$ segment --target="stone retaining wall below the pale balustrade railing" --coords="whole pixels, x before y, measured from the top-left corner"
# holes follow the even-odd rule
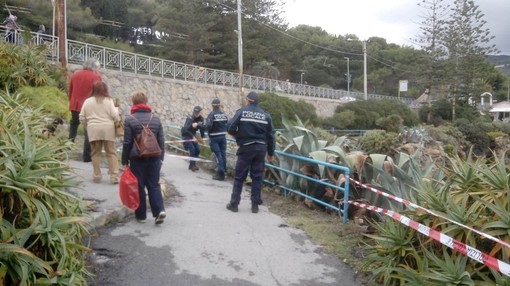
[[[72,71],[81,68],[73,65]],[[123,115],[129,114],[131,108],[130,95],[137,89],[144,90],[149,96],[149,105],[160,115],[164,126],[184,123],[195,105],[200,105],[204,117],[211,111],[211,101],[219,98],[223,110],[229,117],[240,107],[241,96],[238,88],[212,84],[194,83],[154,76],[123,73],[119,71],[101,70],[103,80],[108,84],[110,95],[119,98]],[[246,91],[246,94],[249,91]],[[340,101],[306,96],[279,94],[293,100],[304,100],[315,106],[319,117],[330,117]]]

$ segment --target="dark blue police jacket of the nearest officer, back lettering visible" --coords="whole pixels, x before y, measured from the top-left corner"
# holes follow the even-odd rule
[[[266,145],[267,154],[273,156],[275,141],[271,115],[257,105],[250,104],[236,111],[228,122],[228,134],[236,138],[239,148]]]

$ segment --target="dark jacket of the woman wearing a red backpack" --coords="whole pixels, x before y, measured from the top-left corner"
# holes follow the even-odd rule
[[[131,115],[136,117],[136,119],[138,119],[140,123],[145,126],[147,123],[149,123],[151,114],[152,113],[147,109],[137,109]],[[142,126],[140,123],[138,123],[138,121],[136,121],[136,119],[131,117],[131,115],[126,116],[124,119],[124,145],[122,147],[122,165],[127,165],[130,159],[138,158],[138,151],[136,150],[134,140],[136,136],[142,132]],[[161,148],[161,156],[159,159],[163,161],[165,159],[165,135],[163,132],[163,125],[161,125],[161,120],[156,114],[153,114],[149,123],[149,128],[158,139],[159,147]]]

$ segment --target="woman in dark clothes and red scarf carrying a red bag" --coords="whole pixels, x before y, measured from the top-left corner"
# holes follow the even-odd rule
[[[140,194],[140,205],[135,210],[135,216],[138,222],[144,223],[147,219],[147,200],[145,188],[149,195],[149,202],[152,216],[156,224],[161,224],[165,220],[165,206],[161,187],[159,185],[159,176],[161,164],[165,156],[165,136],[163,126],[159,116],[152,113],[152,109],[147,105],[147,95],[143,91],[135,91],[131,100],[131,115],[124,119],[124,145],[122,148],[122,165],[129,166],[133,174],[138,179],[138,191]],[[134,117],[134,118],[133,118]],[[142,124],[148,125],[152,133],[156,136],[161,156],[159,157],[140,157],[134,144],[135,138],[142,132]]]

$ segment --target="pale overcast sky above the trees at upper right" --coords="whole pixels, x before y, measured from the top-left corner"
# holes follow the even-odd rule
[[[376,36],[389,43],[413,46],[420,35],[425,10],[421,0],[286,0],[284,17],[290,27],[319,26],[330,34],[355,34],[360,40]],[[500,54],[510,55],[510,0],[476,0],[485,14]]]

